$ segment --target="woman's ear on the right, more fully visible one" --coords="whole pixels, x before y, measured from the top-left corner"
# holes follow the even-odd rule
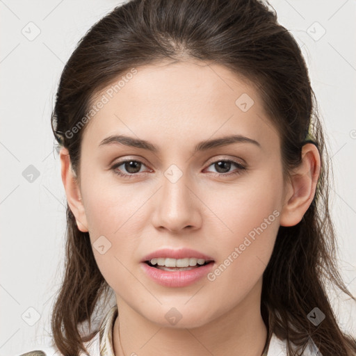
[[[302,220],[314,199],[320,163],[320,154],[316,145],[305,144],[302,147],[302,163],[291,172],[291,180],[286,183],[280,225],[294,226]]]

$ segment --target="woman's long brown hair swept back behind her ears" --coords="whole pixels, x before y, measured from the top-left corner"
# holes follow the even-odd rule
[[[302,145],[321,154],[316,194],[300,223],[280,227],[264,271],[261,315],[286,339],[289,355],[312,339],[323,356],[356,355],[355,339],[341,332],[327,297],[327,282],[356,300],[341,280],[328,208],[329,163],[316,97],[300,48],[278,24],[275,10],[258,0],[133,0],[116,7],[83,36],[60,77],[52,129],[70,152],[80,180],[81,138],[93,98],[140,65],[192,58],[224,65],[255,86],[281,138],[284,171],[300,164]],[[86,118],[86,120],[85,120]],[[51,316],[63,355],[88,354],[79,332],[110,287],[99,271],[88,232],[79,231],[67,206],[65,275]],[[317,326],[314,307],[325,314]]]

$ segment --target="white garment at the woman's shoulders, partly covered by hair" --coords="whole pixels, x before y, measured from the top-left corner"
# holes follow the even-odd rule
[[[84,343],[90,356],[115,356],[113,353],[113,325],[118,316],[118,307],[112,307],[104,317],[97,334],[90,341]],[[41,348],[45,356],[63,356],[54,348]],[[44,356],[40,353],[24,353],[19,356]],[[81,353],[81,356],[85,356]],[[282,341],[272,334],[266,356],[286,356],[286,341]],[[323,356],[311,341],[302,356]]]

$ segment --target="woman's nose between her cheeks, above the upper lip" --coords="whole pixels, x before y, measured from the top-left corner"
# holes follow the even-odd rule
[[[152,223],[157,229],[167,229],[172,233],[191,232],[202,223],[202,202],[188,175],[183,174],[176,179],[171,179],[168,174],[162,176],[161,188],[154,200]]]

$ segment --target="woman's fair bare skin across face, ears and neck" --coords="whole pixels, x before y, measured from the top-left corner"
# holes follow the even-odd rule
[[[89,232],[92,243],[103,235],[111,243],[106,253],[93,252],[118,302],[115,355],[259,356],[267,337],[260,313],[262,274],[279,226],[296,225],[312,202],[318,150],[305,145],[302,164],[284,181],[277,129],[247,82],[223,66],[192,60],[136,69],[88,123],[80,181],[67,149],[60,151],[67,201],[79,229]],[[254,100],[246,112],[235,104],[243,93]],[[261,147],[233,143],[193,154],[200,141],[232,133]],[[113,134],[147,140],[159,152],[99,147]],[[143,162],[136,171],[115,168],[136,176],[115,175],[111,167],[122,159]],[[219,170],[213,163],[222,159],[245,163],[246,170],[234,163]],[[172,164],[182,173],[175,183],[164,175]],[[173,288],[156,284],[140,268],[149,252],[187,247],[213,257],[215,269],[273,211],[279,213],[273,223],[216,280],[204,277]],[[165,318],[172,307],[181,314],[175,325]]]

